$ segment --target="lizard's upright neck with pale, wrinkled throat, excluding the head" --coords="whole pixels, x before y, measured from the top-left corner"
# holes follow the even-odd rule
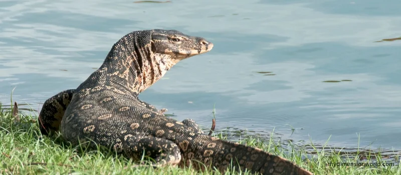
[[[119,89],[139,94],[159,80],[179,60],[168,54],[154,53],[153,44],[139,43],[136,33],[129,33],[117,41],[99,70]]]

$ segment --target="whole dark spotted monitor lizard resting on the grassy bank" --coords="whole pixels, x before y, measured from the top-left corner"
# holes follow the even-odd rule
[[[312,174],[295,163],[259,148],[205,135],[191,119],[182,122],[138,98],[178,61],[210,51],[213,43],[176,30],[133,31],[117,41],[103,64],[76,89],[45,101],[41,131],[60,129],[65,140],[92,140],[138,160],[143,153],[158,165],[204,170],[214,166],[262,174]],[[185,123],[185,124],[184,124]],[[90,141],[90,146],[95,146]],[[144,152],[143,152],[144,151]]]

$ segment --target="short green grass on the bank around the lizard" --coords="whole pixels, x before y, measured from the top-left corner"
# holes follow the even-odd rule
[[[84,150],[80,146],[68,145],[61,137],[44,136],[39,131],[37,116],[21,112],[19,115],[20,121],[16,122],[12,111],[2,108],[0,104],[0,174],[220,174],[213,169],[200,172],[192,168],[173,166],[132,167],[134,162],[111,151]],[[217,132],[215,136],[227,139],[227,135],[222,132]],[[365,156],[363,161],[359,161],[360,156],[344,157],[344,152],[316,148],[313,143],[309,144],[312,151],[293,144],[285,148],[280,141],[275,141],[273,134],[267,140],[247,136],[239,142],[290,159],[314,174],[401,174],[399,165],[329,165],[346,162],[384,162],[379,153]],[[231,171],[226,174],[249,173]]]

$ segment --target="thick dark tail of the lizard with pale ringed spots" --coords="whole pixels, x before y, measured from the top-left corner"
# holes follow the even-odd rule
[[[299,174],[307,175],[312,172],[296,165],[277,155],[262,149],[246,146],[239,143],[221,140],[209,135],[197,135],[195,139],[181,141],[179,146],[183,150],[182,163],[192,163],[197,169],[205,170],[206,166],[214,166],[224,173],[227,168],[238,170],[248,169],[260,174]],[[194,163],[202,162],[202,163]]]

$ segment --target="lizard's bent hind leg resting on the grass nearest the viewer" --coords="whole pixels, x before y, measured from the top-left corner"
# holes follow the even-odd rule
[[[181,152],[177,144],[171,140],[154,136],[124,136],[122,144],[124,154],[134,160],[140,160],[142,155],[152,158],[154,165],[176,165],[181,160]]]

